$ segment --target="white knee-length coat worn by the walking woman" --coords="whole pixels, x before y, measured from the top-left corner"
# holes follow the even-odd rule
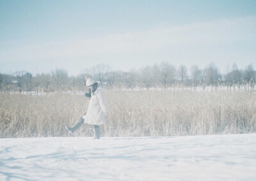
[[[90,125],[103,125],[106,123],[104,113],[107,113],[107,111],[108,109],[103,90],[100,86],[98,86],[97,90],[92,93],[87,112],[83,116],[84,123],[88,123]]]

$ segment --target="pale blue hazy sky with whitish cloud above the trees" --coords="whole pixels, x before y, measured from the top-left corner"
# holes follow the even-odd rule
[[[0,73],[163,61],[256,68],[256,1],[0,0]]]

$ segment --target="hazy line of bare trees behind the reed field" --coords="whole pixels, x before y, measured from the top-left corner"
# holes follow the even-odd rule
[[[83,74],[71,77],[68,76],[66,70],[58,68],[49,74],[35,76],[26,71],[15,72],[12,75],[0,74],[0,90],[2,92],[33,91],[37,93],[84,90],[86,75],[102,82],[105,88],[122,90],[134,88],[166,90],[188,87],[196,90],[198,87],[205,89],[209,86],[212,90],[219,86],[225,86],[227,90],[254,90],[256,82],[256,72],[252,65],[239,69],[234,63],[226,74],[220,74],[214,63],[204,69],[193,65],[188,73],[188,68],[185,65],[176,68],[168,62],[163,62],[129,72],[111,71],[108,65],[96,65],[84,70]]]

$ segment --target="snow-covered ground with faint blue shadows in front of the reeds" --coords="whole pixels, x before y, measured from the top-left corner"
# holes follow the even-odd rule
[[[256,180],[256,134],[0,139],[0,180]]]

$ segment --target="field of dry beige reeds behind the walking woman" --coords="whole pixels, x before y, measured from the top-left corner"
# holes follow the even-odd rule
[[[102,136],[186,136],[256,132],[256,92],[105,91]],[[0,94],[0,138],[70,136],[88,100],[75,93]],[[74,136],[93,136],[84,124]]]

